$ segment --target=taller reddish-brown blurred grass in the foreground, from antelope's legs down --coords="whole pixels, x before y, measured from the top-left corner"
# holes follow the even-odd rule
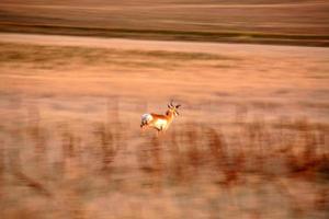
[[[136,212],[134,199],[144,215],[135,218],[179,218],[191,207],[191,218],[326,218],[328,127],[288,118],[188,120],[156,137],[129,129],[134,124],[112,108],[105,122],[52,124],[31,105],[22,108],[26,117],[3,123],[1,216],[127,217]]]

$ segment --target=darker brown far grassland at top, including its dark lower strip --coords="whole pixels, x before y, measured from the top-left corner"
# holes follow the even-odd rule
[[[328,46],[326,0],[0,2],[0,31]]]

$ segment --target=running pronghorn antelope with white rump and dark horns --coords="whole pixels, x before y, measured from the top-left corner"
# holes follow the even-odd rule
[[[179,114],[177,111],[181,105],[173,105],[172,102],[168,104],[166,115],[159,115],[154,113],[147,113],[141,116],[140,128],[152,127],[159,131],[167,130],[173,118]]]

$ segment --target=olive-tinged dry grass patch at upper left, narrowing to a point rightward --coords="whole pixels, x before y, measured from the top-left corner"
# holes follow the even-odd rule
[[[70,65],[114,65],[138,68],[168,68],[186,61],[229,61],[236,57],[207,53],[131,50],[78,46],[44,46],[0,43],[0,64],[33,65],[34,68],[64,68]],[[222,66],[220,66],[222,67]]]

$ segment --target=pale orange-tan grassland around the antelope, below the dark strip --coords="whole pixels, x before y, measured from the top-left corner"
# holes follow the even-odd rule
[[[327,218],[328,53],[0,34],[0,218]]]

